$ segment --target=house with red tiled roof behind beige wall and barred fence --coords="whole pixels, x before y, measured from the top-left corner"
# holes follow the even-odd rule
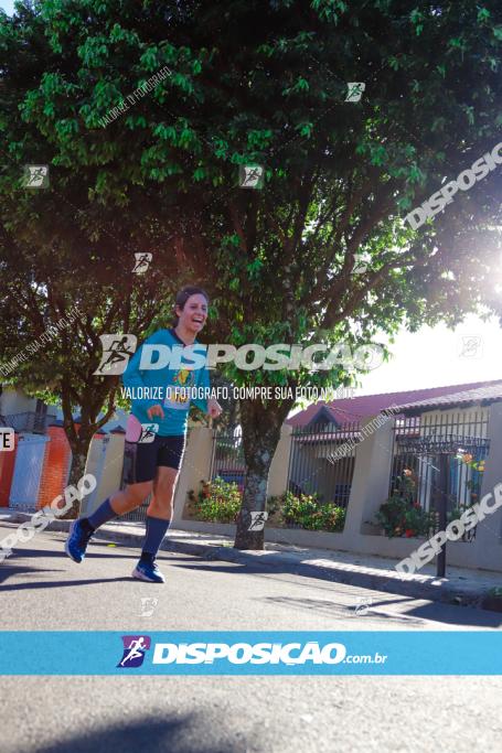
[[[346,508],[344,528],[335,533],[267,525],[268,541],[357,552],[362,559],[380,555],[400,560],[424,539],[407,538],[405,531],[387,538],[375,515],[391,493],[399,491],[405,470],[416,482],[415,504],[437,510],[446,499],[453,516],[478,499],[493,496],[494,487],[502,483],[502,379],[363,396],[342,400],[342,406],[338,402],[309,406],[284,424],[268,494],[288,488],[316,491],[325,503]],[[387,416],[380,413],[391,407]],[[177,490],[177,528],[233,535],[233,525],[194,519],[185,504],[188,490],[196,490],[201,478],[216,475],[214,460],[222,439],[226,467],[228,438],[204,428],[193,430]],[[330,462],[329,455],[341,444],[348,448],[345,456]],[[236,447],[234,442],[234,461]],[[502,572],[502,509],[495,509],[469,536],[449,541],[447,561]]]

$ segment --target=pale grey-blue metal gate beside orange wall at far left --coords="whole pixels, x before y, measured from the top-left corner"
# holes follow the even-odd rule
[[[9,507],[35,510],[42,477],[45,443],[43,434],[21,434],[15,453],[14,473],[9,496]]]

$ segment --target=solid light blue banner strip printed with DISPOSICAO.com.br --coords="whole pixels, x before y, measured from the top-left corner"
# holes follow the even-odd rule
[[[0,675],[502,675],[502,632],[0,632]]]

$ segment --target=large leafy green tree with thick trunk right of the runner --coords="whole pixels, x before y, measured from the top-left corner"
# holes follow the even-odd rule
[[[403,323],[455,324],[492,288],[496,170],[419,230],[403,219],[499,141],[494,0],[145,0],[140,13],[132,0],[46,0],[2,34],[21,44],[40,24],[50,51],[20,97],[26,128],[62,185],[78,175],[87,186],[89,212],[135,215],[151,196],[158,233],[177,236],[214,294],[218,342],[307,344],[322,332],[365,345]],[[349,82],[365,84],[359,103],[345,101]],[[117,106],[127,111],[102,127]],[[253,163],[265,165],[261,190],[238,186],[238,165]],[[351,378],[343,363],[225,373],[291,387]],[[241,404],[237,547],[263,547],[249,513],[265,507],[292,402]]]

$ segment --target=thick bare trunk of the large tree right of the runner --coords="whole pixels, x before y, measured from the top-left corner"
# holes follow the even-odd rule
[[[292,401],[273,402],[267,407],[258,400],[241,401],[243,447],[246,477],[234,547],[263,549],[265,530],[249,530],[252,512],[264,512],[267,502],[268,472],[280,438],[280,428]]]

